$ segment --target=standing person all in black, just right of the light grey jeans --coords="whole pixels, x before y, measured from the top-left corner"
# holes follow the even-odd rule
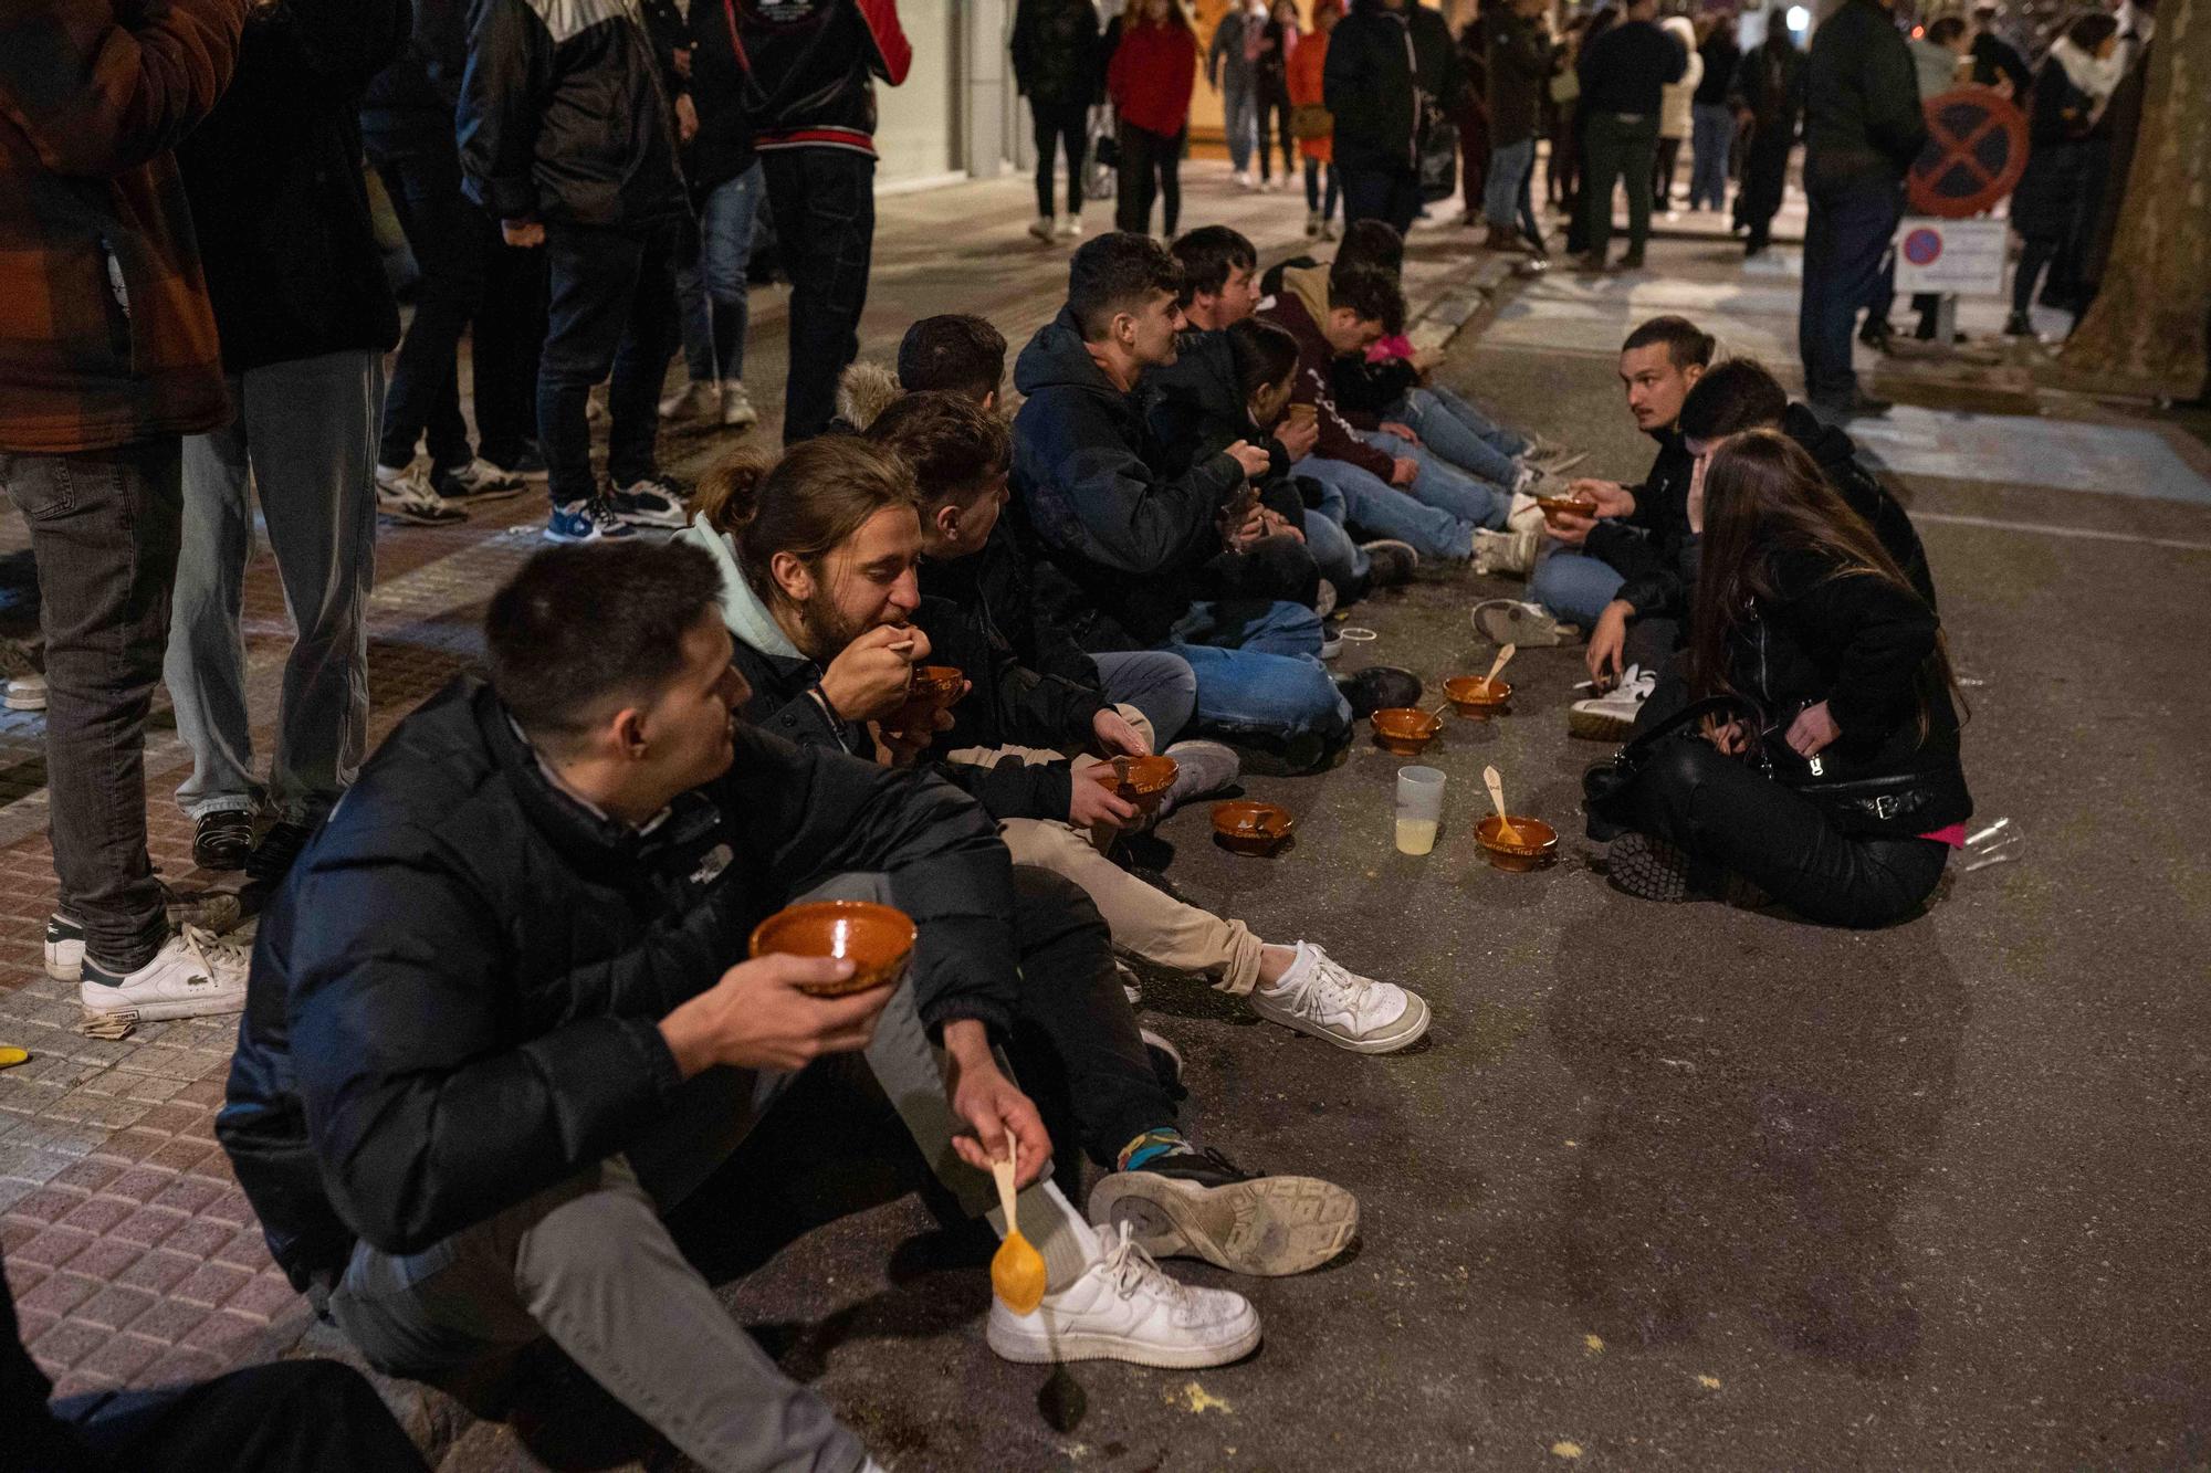
[[[531,476],[544,476],[544,252],[506,245],[500,223],[462,190],[453,108],[467,66],[467,0],[413,0],[407,49],[376,73],[360,102],[369,164],[418,270],[376,447],[376,504],[405,522],[460,522],[460,504],[517,495]],[[460,416],[462,332],[471,334],[475,447]],[[413,469],[425,436],[429,476]]]

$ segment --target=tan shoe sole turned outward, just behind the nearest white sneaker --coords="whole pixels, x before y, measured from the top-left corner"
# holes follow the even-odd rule
[[[1154,1258],[1205,1258],[1254,1278],[1304,1274],[1360,1230],[1360,1199],[1318,1177],[1258,1177],[1205,1188],[1159,1172],[1117,1172],[1090,1192],[1090,1221],[1128,1223]]]

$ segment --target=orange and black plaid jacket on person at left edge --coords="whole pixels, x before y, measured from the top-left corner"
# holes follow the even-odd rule
[[[170,157],[223,95],[248,0],[0,0],[0,449],[228,418]]]

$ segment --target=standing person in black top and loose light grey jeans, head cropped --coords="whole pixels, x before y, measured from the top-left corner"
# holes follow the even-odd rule
[[[177,146],[234,418],[184,442],[168,679],[192,774],[192,858],[274,882],[369,741],[376,427],[400,314],[360,177],[360,91],[407,0],[283,0],[245,22],[223,102]],[[270,779],[254,779],[239,610],[259,487],[298,637]],[[254,845],[254,816],[274,823]]]

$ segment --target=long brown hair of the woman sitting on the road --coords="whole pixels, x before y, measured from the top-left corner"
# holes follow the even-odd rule
[[[1795,551],[1824,555],[1833,564],[1828,577],[1877,577],[1919,597],[1873,526],[1826,482],[1802,445],[1778,429],[1747,429],[1720,445],[1705,467],[1705,535],[1689,608],[1691,694],[1747,694],[1729,679],[1729,646],[1756,604],[1773,602],[1775,555]],[[1917,686],[1919,739],[1926,741],[1941,692],[1966,710],[1939,630]]]

